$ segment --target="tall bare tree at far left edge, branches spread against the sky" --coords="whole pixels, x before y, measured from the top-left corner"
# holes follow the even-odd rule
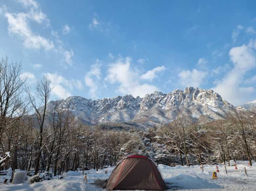
[[[21,62],[0,61],[0,142],[7,127],[15,126],[26,114],[27,104],[22,97],[26,78],[21,78]],[[5,148],[2,145],[2,152]],[[8,147],[10,149],[10,147]],[[9,150],[8,150],[9,151]]]

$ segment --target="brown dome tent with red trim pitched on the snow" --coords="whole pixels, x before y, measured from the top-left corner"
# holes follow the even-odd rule
[[[123,157],[112,171],[107,188],[110,190],[165,190],[163,178],[148,157],[132,154]]]

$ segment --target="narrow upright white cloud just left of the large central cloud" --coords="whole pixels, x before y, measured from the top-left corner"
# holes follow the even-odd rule
[[[91,65],[91,69],[84,77],[85,84],[90,88],[89,94],[92,98],[98,98],[97,92],[100,86],[99,80],[101,79],[100,71],[101,62],[97,59],[96,63]]]

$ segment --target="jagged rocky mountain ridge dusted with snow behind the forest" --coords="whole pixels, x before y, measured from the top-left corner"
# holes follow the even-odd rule
[[[71,96],[59,100],[62,104],[70,103],[72,113],[83,123],[96,125],[110,122],[131,122],[140,127],[152,127],[166,124],[179,113],[200,120],[223,118],[227,112],[236,109],[210,89],[187,87],[182,90],[163,94],[154,92],[143,98],[132,95],[86,99]],[[53,101],[48,103],[48,107]]]

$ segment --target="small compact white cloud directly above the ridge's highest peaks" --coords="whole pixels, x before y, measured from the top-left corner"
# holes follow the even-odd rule
[[[183,86],[200,87],[207,74],[207,72],[200,71],[197,69],[193,69],[192,71],[183,70],[178,74],[178,77],[180,84]]]

